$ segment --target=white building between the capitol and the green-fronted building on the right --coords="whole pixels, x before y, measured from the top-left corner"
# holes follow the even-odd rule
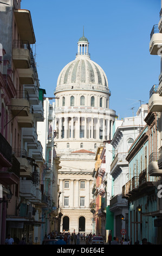
[[[113,139],[113,161],[111,163],[112,175],[112,198],[109,201],[109,211],[114,215],[114,235],[120,239],[121,229],[126,230],[128,239],[128,205],[127,200],[122,198],[122,186],[128,182],[128,162],[126,156],[132,143],[138,137],[142,127],[145,126],[145,117],[148,113],[148,105],[141,105],[135,117],[124,118],[117,127]]]

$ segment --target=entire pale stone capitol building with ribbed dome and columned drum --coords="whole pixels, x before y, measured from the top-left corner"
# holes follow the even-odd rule
[[[60,72],[55,90],[56,154],[60,156],[61,229],[92,232],[93,177],[96,151],[112,138],[115,111],[103,69],[90,59],[89,42],[77,42],[76,58]]]

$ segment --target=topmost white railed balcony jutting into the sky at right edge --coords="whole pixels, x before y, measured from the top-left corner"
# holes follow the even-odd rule
[[[150,54],[161,55],[162,34],[159,33],[158,25],[154,25],[150,34]]]

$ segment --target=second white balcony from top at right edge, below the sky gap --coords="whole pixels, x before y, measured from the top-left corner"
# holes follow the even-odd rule
[[[162,112],[162,97],[159,96],[158,85],[154,85],[150,90],[148,108],[151,112]]]

